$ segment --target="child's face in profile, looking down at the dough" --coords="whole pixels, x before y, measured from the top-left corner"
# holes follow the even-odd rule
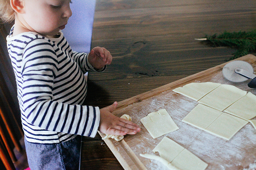
[[[24,0],[24,3],[24,26],[42,35],[56,35],[72,15],[70,0]]]

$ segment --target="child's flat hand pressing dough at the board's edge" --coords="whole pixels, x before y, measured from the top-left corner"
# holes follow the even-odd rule
[[[108,135],[134,135],[141,131],[137,124],[113,115],[115,108],[117,108],[117,102],[100,110],[100,132]]]

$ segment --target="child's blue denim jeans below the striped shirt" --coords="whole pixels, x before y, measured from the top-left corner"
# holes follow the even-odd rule
[[[26,141],[31,170],[79,170],[81,136],[57,144],[34,144]]]

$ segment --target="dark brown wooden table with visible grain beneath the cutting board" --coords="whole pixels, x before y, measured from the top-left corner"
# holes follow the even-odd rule
[[[236,49],[194,38],[256,29],[255,7],[252,0],[97,0],[92,47],[107,48],[113,62],[89,73],[86,104],[103,108],[223,64]],[[123,169],[100,135],[82,141],[81,170]]]

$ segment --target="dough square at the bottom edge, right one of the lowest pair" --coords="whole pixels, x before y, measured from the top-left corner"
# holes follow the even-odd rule
[[[199,159],[196,155],[184,149],[172,162],[171,165],[181,170],[205,170],[207,163]]]

